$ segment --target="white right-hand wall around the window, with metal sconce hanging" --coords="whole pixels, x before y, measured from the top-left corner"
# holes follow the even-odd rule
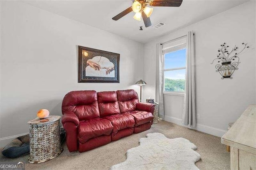
[[[256,103],[255,2],[230,10],[177,30],[144,46],[144,96],[155,97],[156,43],[166,42],[195,32],[196,111],[200,115],[198,130],[222,136],[228,123],[234,122],[249,104]],[[248,42],[250,48],[240,55],[239,69],[233,79],[222,80],[211,65],[220,44],[231,47]],[[181,124],[183,96],[164,96],[165,120]]]

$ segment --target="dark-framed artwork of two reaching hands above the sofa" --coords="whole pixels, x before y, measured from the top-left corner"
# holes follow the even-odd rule
[[[78,83],[119,83],[120,54],[78,46]]]

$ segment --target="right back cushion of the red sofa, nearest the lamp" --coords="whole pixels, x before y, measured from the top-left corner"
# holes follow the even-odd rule
[[[139,103],[138,94],[134,90],[118,90],[116,91],[119,109],[121,113],[132,112],[136,110]]]

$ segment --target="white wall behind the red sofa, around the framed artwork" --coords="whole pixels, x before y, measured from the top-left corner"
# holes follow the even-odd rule
[[[39,109],[61,115],[62,99],[69,91],[139,93],[134,83],[144,78],[143,44],[22,2],[0,3],[3,140],[28,132],[27,122]],[[120,53],[120,83],[77,83],[78,45]]]

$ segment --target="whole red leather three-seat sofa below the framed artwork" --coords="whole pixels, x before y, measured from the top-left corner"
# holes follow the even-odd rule
[[[70,152],[84,152],[151,127],[154,105],[139,103],[134,90],[71,91],[62,102]]]

